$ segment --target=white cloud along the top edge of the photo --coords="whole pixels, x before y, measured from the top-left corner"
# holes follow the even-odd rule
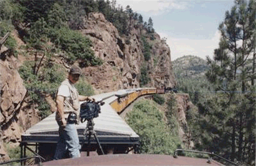
[[[145,12],[150,13],[151,15],[159,15],[163,12],[168,12],[172,9],[185,10],[187,8],[188,2],[186,1],[156,1],[156,0],[136,0],[136,1],[116,1],[117,4],[120,4],[125,9],[129,5],[134,12]]]

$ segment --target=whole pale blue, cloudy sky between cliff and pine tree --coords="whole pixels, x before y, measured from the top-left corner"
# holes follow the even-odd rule
[[[167,38],[170,56],[176,60],[184,55],[206,59],[219,46],[219,24],[224,21],[234,0],[116,0],[125,9],[140,13],[143,21],[152,18],[153,28]]]

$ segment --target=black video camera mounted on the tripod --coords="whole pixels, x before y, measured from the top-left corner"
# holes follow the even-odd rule
[[[80,120],[84,122],[86,120],[91,120],[95,117],[98,117],[100,113],[100,106],[103,106],[105,103],[100,101],[87,101],[81,104],[80,106]]]

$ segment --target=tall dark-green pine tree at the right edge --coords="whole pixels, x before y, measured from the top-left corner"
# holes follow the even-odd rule
[[[225,93],[218,95],[215,106],[207,109],[212,113],[206,112],[212,119],[223,118],[219,127],[217,120],[210,122],[209,126],[215,129],[212,134],[218,135],[222,143],[218,145],[223,147],[224,155],[250,164],[255,164],[255,149],[248,147],[248,144],[255,147],[255,87],[249,82],[254,74],[251,67],[255,23],[255,1],[249,4],[236,1],[219,26],[221,41],[215,49],[214,60],[208,58],[211,69],[206,74],[209,81],[217,85],[216,90]]]

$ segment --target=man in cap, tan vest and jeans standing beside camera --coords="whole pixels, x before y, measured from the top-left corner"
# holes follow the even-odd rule
[[[82,70],[71,67],[68,79],[63,81],[57,92],[56,120],[59,124],[59,142],[57,143],[54,160],[64,157],[68,150],[70,158],[80,157],[80,144],[75,124],[79,122],[80,101],[95,101],[91,97],[79,95],[75,88]]]

